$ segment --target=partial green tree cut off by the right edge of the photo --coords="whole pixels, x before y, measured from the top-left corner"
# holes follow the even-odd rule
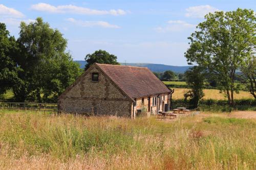
[[[248,56],[245,63],[241,66],[241,71],[243,74],[244,81],[243,84],[246,86],[247,90],[256,99],[256,58],[255,56]]]

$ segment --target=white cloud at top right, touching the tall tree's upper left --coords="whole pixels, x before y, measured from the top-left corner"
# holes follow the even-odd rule
[[[209,6],[209,5],[201,5],[195,7],[189,7],[186,9],[187,13],[186,17],[194,17],[194,18],[203,18],[209,12],[213,13],[215,11],[220,11],[219,9]]]

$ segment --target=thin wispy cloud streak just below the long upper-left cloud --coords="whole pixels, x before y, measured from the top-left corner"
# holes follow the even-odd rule
[[[76,20],[74,18],[68,18],[67,20],[81,27],[120,28],[117,25],[111,25],[109,22],[105,22],[105,21],[83,21],[83,20]]]

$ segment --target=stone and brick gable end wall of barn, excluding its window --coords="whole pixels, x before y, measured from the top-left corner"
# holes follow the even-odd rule
[[[92,81],[92,73],[99,74],[99,81]],[[83,75],[81,81],[58,100],[59,111],[131,117],[132,101],[97,67]]]

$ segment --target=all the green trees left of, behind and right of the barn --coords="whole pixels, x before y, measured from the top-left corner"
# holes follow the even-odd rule
[[[256,99],[255,21],[254,11],[247,9],[207,14],[188,37],[185,57],[194,67],[185,74],[168,70],[155,75],[165,81],[185,80],[190,90],[184,98],[195,106],[204,95],[206,80],[225,93],[230,106],[241,84]],[[56,102],[83,71],[66,48],[67,39],[40,17],[29,24],[21,22],[17,39],[0,23],[0,94],[12,89],[17,102]],[[102,50],[85,60],[85,69],[94,62],[119,64],[115,55]]]

